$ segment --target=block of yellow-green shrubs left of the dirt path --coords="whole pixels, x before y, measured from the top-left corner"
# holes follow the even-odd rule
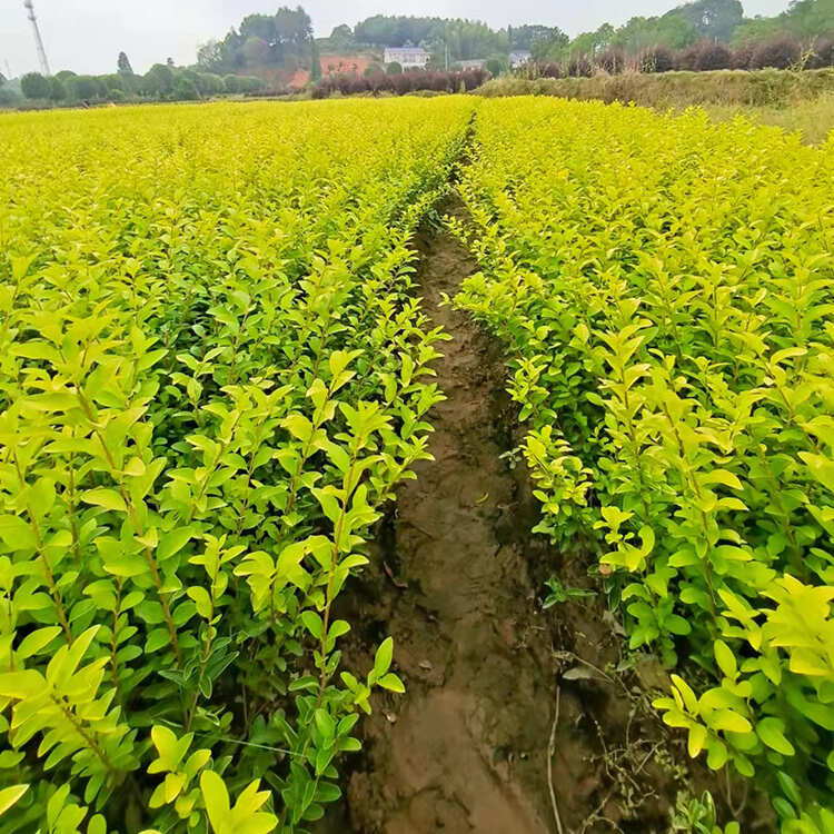
[[[375,687],[332,614],[426,457],[409,237],[470,106],[0,121],[2,831],[299,831]]]

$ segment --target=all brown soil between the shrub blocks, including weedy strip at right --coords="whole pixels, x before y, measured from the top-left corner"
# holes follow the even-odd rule
[[[668,831],[689,774],[675,764],[682,739],[673,749],[638,685],[664,685],[664,673],[647,663],[610,674],[623,641],[600,595],[542,610],[544,578],[588,585],[585,568],[530,534],[538,509],[524,464],[500,457],[516,429],[498,346],[440,305],[474,261],[444,232],[419,248],[425,308],[451,337],[437,365],[447,399],[433,411],[435,460],[400,489],[340,614],[357,629],[347,666],[369,667],[390,634],[407,694],[378,696],[361,723],[365,752],[327,830],[557,831],[547,758],[558,687],[553,792],[564,831]]]

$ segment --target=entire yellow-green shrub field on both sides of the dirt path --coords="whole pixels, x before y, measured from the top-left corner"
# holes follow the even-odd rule
[[[335,600],[430,458],[414,237],[455,188],[530,535],[674,673],[693,757],[834,832],[834,138],[458,96],[0,138],[0,831],[300,834],[339,800],[404,691],[390,638],[342,662]]]

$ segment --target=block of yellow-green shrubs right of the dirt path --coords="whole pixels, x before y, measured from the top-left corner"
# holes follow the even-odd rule
[[[456,300],[512,357],[537,530],[684,665],[691,755],[834,830],[834,140],[513,99],[476,147]]]

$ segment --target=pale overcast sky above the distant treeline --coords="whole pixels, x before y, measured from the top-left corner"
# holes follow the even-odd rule
[[[600,23],[623,23],[634,14],[657,14],[679,0],[306,0],[317,36],[339,23],[353,26],[371,14],[437,14],[485,20],[493,28],[518,23],[559,26],[569,34]],[[298,0],[285,0],[296,6]],[[221,38],[250,12],[274,12],[281,0],[34,0],[34,10],[53,72],[116,71],[125,50],[136,72],[169,56],[193,63],[197,46]],[[787,0],[742,0],[745,13],[774,14]],[[23,0],[0,0],[0,71],[38,69],[34,39]]]

